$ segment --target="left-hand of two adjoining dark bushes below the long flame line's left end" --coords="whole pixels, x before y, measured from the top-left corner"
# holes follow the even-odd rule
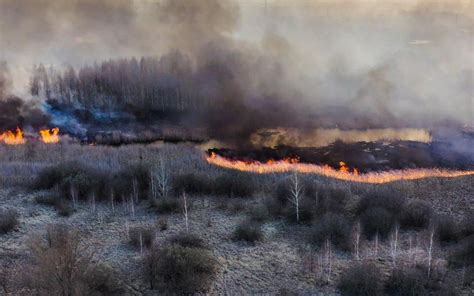
[[[176,195],[183,191],[190,194],[209,194],[212,192],[211,180],[208,177],[196,174],[174,176],[172,186]]]

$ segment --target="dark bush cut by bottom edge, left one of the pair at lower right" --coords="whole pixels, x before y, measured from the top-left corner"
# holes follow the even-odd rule
[[[380,271],[373,264],[357,264],[341,274],[337,285],[343,296],[382,295]]]

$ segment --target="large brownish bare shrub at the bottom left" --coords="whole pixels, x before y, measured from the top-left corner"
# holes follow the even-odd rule
[[[120,295],[120,282],[111,269],[91,262],[82,236],[65,225],[47,228],[46,240],[30,245],[31,286],[39,295]]]

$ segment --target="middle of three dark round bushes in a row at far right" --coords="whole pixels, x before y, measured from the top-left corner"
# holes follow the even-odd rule
[[[412,200],[404,206],[400,226],[406,229],[420,229],[428,226],[433,210],[422,200]]]

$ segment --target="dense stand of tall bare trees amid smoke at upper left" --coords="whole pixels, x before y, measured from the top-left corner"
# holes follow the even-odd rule
[[[210,106],[209,100],[193,87],[197,76],[191,62],[173,52],[139,61],[108,60],[78,70],[40,64],[33,69],[30,90],[34,96],[69,106],[182,112]]]

